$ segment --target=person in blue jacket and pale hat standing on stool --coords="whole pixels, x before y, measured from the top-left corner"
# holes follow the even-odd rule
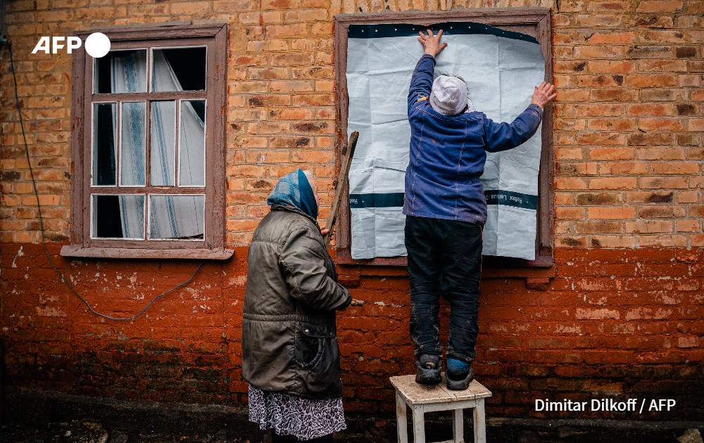
[[[470,112],[467,84],[458,77],[433,80],[435,57],[447,46],[442,30],[420,32],[424,46],[410,82],[410,159],[406,169],[406,250],[410,274],[410,336],[415,381],[440,383],[439,297],[450,303],[447,386],[464,390],[474,372],[479,328],[479,277],[486,199],[479,176],[486,152],[515,148],[537,131],[555,86],[536,86],[531,104],[511,123]]]

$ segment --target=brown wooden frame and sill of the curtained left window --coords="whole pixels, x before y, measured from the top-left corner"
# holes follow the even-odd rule
[[[85,51],[75,52],[73,64],[73,101],[71,138],[72,182],[71,182],[71,235],[70,245],[61,248],[66,257],[114,257],[114,258],[184,258],[227,259],[233,250],[225,248],[225,93],[227,88],[227,25],[225,23],[204,25],[166,25],[120,27],[107,30],[91,30],[79,33],[82,40],[92,32],[102,32],[111,41],[111,50],[168,48],[183,46],[206,46],[206,91],[146,92],[134,94],[97,94],[94,91],[94,58]],[[151,66],[148,69],[151,68]],[[148,81],[151,77],[147,76]],[[151,89],[151,88],[149,88]],[[148,89],[148,90],[149,90]],[[145,164],[145,186],[107,188],[93,186],[92,169],[92,108],[94,102],[146,101],[147,121],[149,103],[159,100],[205,100],[206,101],[206,153],[205,186],[152,186],[149,182],[149,158]],[[177,122],[178,124],[178,122]],[[149,142],[149,127],[145,127]],[[145,152],[148,155],[149,151]],[[178,153],[176,153],[178,154]],[[178,162],[178,159],[175,160]],[[119,167],[116,174],[120,174]],[[91,194],[139,194],[144,195],[145,210],[150,195],[205,195],[205,232],[203,240],[122,240],[91,238]],[[148,215],[146,216],[148,217]]]

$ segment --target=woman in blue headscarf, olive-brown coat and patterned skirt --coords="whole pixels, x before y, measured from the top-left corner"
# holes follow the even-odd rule
[[[319,201],[301,169],[280,179],[247,257],[242,375],[249,420],[273,443],[332,442],[346,428],[335,311],[352,298],[325,248]]]

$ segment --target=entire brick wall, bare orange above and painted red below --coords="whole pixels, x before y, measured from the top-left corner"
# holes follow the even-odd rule
[[[8,53],[0,61],[0,338],[5,383],[150,401],[244,404],[241,304],[246,245],[272,184],[313,169],[332,198],[332,16],[389,9],[543,6],[553,10],[555,267],[482,281],[477,376],[494,416],[559,416],[532,400],[677,399],[696,419],[704,380],[702,102],[704,1],[237,0],[134,4],[18,0],[6,20],[49,251],[91,306],[129,316],[198,262],[68,260],[70,84],[65,54],[31,55],[42,35],[174,20],[230,23],[227,262],[136,321],[102,320],[63,286],[40,245]],[[321,219],[327,215],[322,211]],[[339,316],[349,411],[389,413],[387,377],[413,372],[408,278],[341,267],[353,296]],[[527,278],[526,278],[527,277]],[[446,312],[447,307],[444,307]],[[442,325],[446,330],[446,323]],[[370,389],[384,387],[382,390]],[[574,418],[574,413],[563,416]]]

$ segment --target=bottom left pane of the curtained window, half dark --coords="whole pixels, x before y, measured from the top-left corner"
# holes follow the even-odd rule
[[[144,195],[92,197],[92,238],[144,240]]]

